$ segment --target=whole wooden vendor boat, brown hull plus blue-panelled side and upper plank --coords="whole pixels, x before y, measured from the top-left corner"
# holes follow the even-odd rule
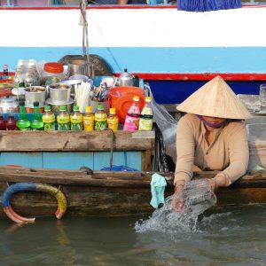
[[[151,213],[153,131],[0,131],[0,197],[9,184],[44,183],[66,195],[67,215],[137,215]],[[127,153],[133,172],[101,171]],[[130,158],[130,153],[131,160]],[[115,159],[118,156],[118,159]],[[81,160],[84,157],[85,160]],[[21,165],[20,166],[4,166]],[[79,170],[85,166],[93,170]],[[173,173],[167,179],[166,196],[173,193]],[[209,178],[213,172],[195,173]],[[266,203],[266,171],[243,176],[230,188],[217,192],[218,205]],[[43,192],[18,192],[12,207],[20,215],[53,215],[56,200]],[[0,209],[0,215],[4,215]]]

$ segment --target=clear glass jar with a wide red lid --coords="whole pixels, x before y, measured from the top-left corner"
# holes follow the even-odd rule
[[[46,63],[43,67],[43,85],[50,85],[66,80],[66,74],[64,74],[64,66],[56,63]]]

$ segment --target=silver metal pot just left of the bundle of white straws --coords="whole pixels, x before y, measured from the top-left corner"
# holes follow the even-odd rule
[[[71,85],[55,83],[47,86],[52,104],[64,104],[70,100]]]

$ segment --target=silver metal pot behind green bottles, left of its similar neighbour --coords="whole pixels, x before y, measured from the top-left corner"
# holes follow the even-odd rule
[[[39,102],[39,106],[44,106],[47,98],[47,90],[42,86],[32,86],[25,89],[25,106],[33,106],[34,102]]]

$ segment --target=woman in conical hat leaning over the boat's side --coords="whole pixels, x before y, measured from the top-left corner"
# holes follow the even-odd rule
[[[177,110],[186,113],[177,123],[175,193],[172,207],[183,207],[184,184],[192,179],[194,166],[218,171],[209,180],[213,191],[229,186],[246,173],[248,144],[246,107],[220,76],[195,91]]]

